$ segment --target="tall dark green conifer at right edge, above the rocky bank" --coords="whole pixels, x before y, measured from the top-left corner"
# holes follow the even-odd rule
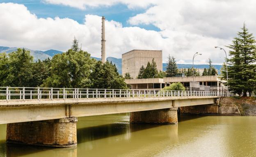
[[[249,33],[245,23],[241,30],[238,31],[238,36],[234,38],[232,44],[227,46],[231,49],[229,51],[231,58],[228,60],[230,65],[228,85],[233,93],[247,96],[247,92],[251,95],[255,87],[256,40],[252,33]]]

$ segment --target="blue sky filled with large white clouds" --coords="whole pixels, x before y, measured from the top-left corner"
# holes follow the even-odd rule
[[[101,56],[101,16],[107,57],[133,49],[163,51],[178,63],[222,64],[243,22],[256,33],[255,0],[0,0],[0,46],[66,51],[75,36]],[[226,49],[228,50],[228,49]]]

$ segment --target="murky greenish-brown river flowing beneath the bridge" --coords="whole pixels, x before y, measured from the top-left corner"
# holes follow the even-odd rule
[[[129,114],[80,117],[78,146],[5,144],[0,157],[254,157],[256,117],[181,115],[177,125],[130,124]]]

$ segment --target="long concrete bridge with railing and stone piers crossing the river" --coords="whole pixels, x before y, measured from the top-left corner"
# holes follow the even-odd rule
[[[77,144],[77,117],[130,113],[130,122],[178,124],[178,107],[218,104],[217,92],[0,87],[7,143]]]

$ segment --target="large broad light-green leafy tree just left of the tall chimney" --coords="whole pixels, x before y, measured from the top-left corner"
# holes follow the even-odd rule
[[[90,86],[89,75],[96,60],[86,51],[73,51],[53,56],[51,75],[42,86],[58,88],[87,88]]]

